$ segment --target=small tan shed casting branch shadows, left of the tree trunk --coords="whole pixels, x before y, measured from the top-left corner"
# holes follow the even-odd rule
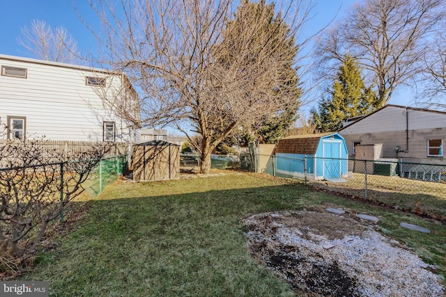
[[[180,178],[180,146],[166,141],[148,141],[133,146],[133,180]]]

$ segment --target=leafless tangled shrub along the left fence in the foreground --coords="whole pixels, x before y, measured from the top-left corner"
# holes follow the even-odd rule
[[[107,150],[109,145],[97,145],[69,161],[43,139],[0,146],[0,268],[16,263],[20,272],[20,263],[36,252],[49,223],[84,191],[82,184]]]

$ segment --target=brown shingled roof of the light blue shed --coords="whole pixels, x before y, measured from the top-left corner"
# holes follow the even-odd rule
[[[334,132],[295,135],[282,138],[277,143],[276,153],[316,154],[322,137],[335,134]]]

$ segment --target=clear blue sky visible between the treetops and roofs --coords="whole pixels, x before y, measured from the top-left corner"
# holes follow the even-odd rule
[[[319,0],[314,1],[315,15],[308,24],[308,31],[321,29],[335,17],[338,8],[338,17],[344,10],[355,2],[361,0]],[[279,1],[277,1],[279,2]],[[18,44],[17,37],[20,29],[30,26],[33,19],[45,21],[50,26],[63,26],[77,41],[79,49],[84,53],[95,51],[95,38],[79,19],[78,13],[86,22],[97,23],[97,17],[89,7],[86,0],[0,0],[0,54],[23,56],[33,58],[24,47]],[[409,105],[413,95],[410,90],[398,90],[390,103]]]

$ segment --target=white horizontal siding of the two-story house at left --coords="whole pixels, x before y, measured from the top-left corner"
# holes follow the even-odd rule
[[[27,78],[0,75],[0,118],[26,117],[26,138],[102,141],[104,121],[115,122],[116,141],[132,141],[130,125],[105,107],[87,76],[107,77],[102,70],[0,55],[0,65],[24,67]],[[120,83],[119,77],[107,83]],[[6,138],[2,135],[1,138]]]

